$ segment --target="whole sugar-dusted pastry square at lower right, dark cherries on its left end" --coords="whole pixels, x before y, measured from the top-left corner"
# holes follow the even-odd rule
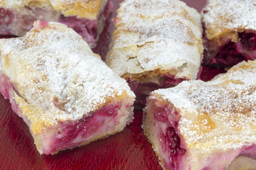
[[[255,169],[256,61],[153,91],[144,134],[164,169]]]

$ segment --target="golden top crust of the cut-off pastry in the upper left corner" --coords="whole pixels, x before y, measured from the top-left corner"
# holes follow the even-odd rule
[[[107,0],[1,0],[0,8],[22,10],[24,6],[50,7],[65,16],[96,19]]]

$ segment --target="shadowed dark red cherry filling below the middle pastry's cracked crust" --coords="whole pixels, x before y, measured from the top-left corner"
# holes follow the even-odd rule
[[[175,79],[174,76],[162,76],[160,79],[160,84],[154,82],[140,83],[138,81],[130,81],[130,79],[128,79],[128,84],[130,89],[136,95],[135,107],[144,108],[147,97],[152,91],[177,86],[184,80],[185,79]]]

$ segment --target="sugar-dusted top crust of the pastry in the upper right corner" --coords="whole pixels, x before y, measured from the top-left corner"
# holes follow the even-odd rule
[[[203,10],[209,40],[243,30],[256,30],[255,0],[208,0]]]

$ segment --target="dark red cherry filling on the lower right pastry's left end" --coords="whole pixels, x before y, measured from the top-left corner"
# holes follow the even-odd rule
[[[181,140],[176,130],[179,113],[167,106],[154,106],[153,110],[154,119],[157,121],[157,137],[162,148],[162,161],[167,169],[179,169],[178,162],[186,152],[181,147]]]

